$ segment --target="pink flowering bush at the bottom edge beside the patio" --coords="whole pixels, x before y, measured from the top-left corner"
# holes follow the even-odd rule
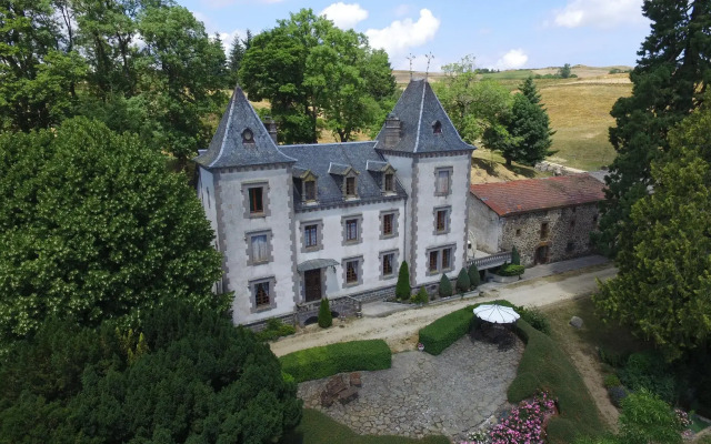
[[[460,444],[543,444],[545,416],[555,413],[555,400],[542,392],[531,401],[522,401],[504,420],[491,427],[485,437]]]

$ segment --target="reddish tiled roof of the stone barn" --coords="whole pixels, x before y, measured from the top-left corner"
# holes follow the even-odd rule
[[[590,174],[471,185],[470,192],[500,216],[551,210],[604,199],[604,185]]]

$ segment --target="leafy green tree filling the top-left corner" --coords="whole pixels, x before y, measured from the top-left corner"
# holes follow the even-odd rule
[[[50,1],[4,1],[0,17],[0,129],[27,132],[71,115],[87,65]]]

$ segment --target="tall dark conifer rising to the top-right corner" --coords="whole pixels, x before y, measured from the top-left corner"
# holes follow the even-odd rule
[[[631,208],[654,184],[650,167],[669,149],[667,133],[701,105],[711,78],[709,2],[645,0],[642,12],[651,20],[651,33],[630,73],[632,95],[619,99],[610,112],[615,119],[610,142],[618,154],[605,179],[600,233],[593,238],[612,258],[634,248]]]

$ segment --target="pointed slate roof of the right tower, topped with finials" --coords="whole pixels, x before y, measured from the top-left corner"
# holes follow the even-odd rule
[[[380,150],[425,153],[474,149],[459,137],[427,80],[410,81],[391,114],[400,119],[400,141],[387,147],[383,124],[375,138]],[[437,121],[441,124],[441,133],[434,133],[433,124]]]

